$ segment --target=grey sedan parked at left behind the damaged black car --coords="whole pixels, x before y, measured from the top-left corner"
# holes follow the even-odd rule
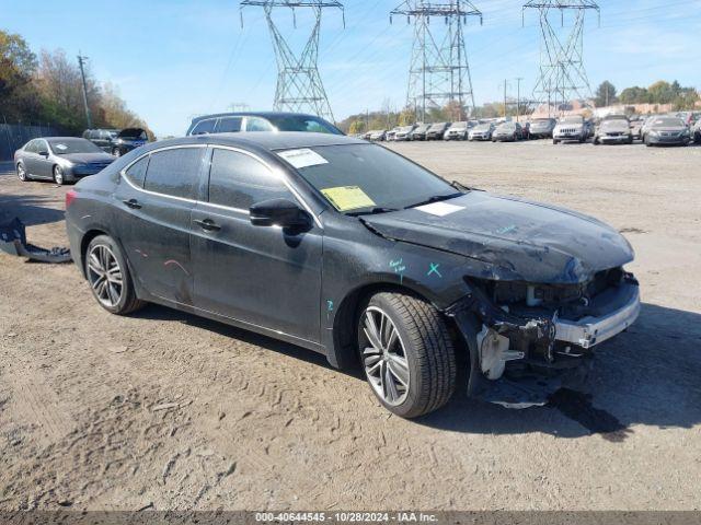
[[[91,141],[74,137],[34,139],[14,153],[14,167],[21,180],[42,178],[56,184],[94,175],[114,161],[114,156]]]

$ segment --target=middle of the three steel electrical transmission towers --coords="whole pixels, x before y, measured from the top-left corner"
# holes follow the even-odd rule
[[[481,24],[482,13],[468,0],[406,0],[390,12],[390,23],[394,15],[414,21],[407,106],[425,121],[427,108],[457,104],[462,120],[474,108],[463,26],[469,16],[479,16]],[[432,27],[432,19],[443,19],[444,27]]]

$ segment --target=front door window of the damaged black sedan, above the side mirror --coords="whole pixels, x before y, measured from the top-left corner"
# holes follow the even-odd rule
[[[209,202],[248,210],[267,199],[294,199],[285,184],[252,156],[216,148],[209,171]]]

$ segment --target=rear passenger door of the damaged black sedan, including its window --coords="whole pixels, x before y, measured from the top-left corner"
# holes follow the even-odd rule
[[[139,283],[168,301],[193,303],[191,211],[197,198],[202,145],[157,150],[133,163],[115,192],[118,237]]]

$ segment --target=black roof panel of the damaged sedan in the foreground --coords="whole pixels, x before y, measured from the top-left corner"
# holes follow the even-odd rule
[[[250,133],[196,135],[180,139],[161,140],[153,142],[152,149],[193,143],[238,145],[241,148],[275,151],[323,145],[367,144],[368,142],[345,135],[300,133],[298,131],[256,131]]]

